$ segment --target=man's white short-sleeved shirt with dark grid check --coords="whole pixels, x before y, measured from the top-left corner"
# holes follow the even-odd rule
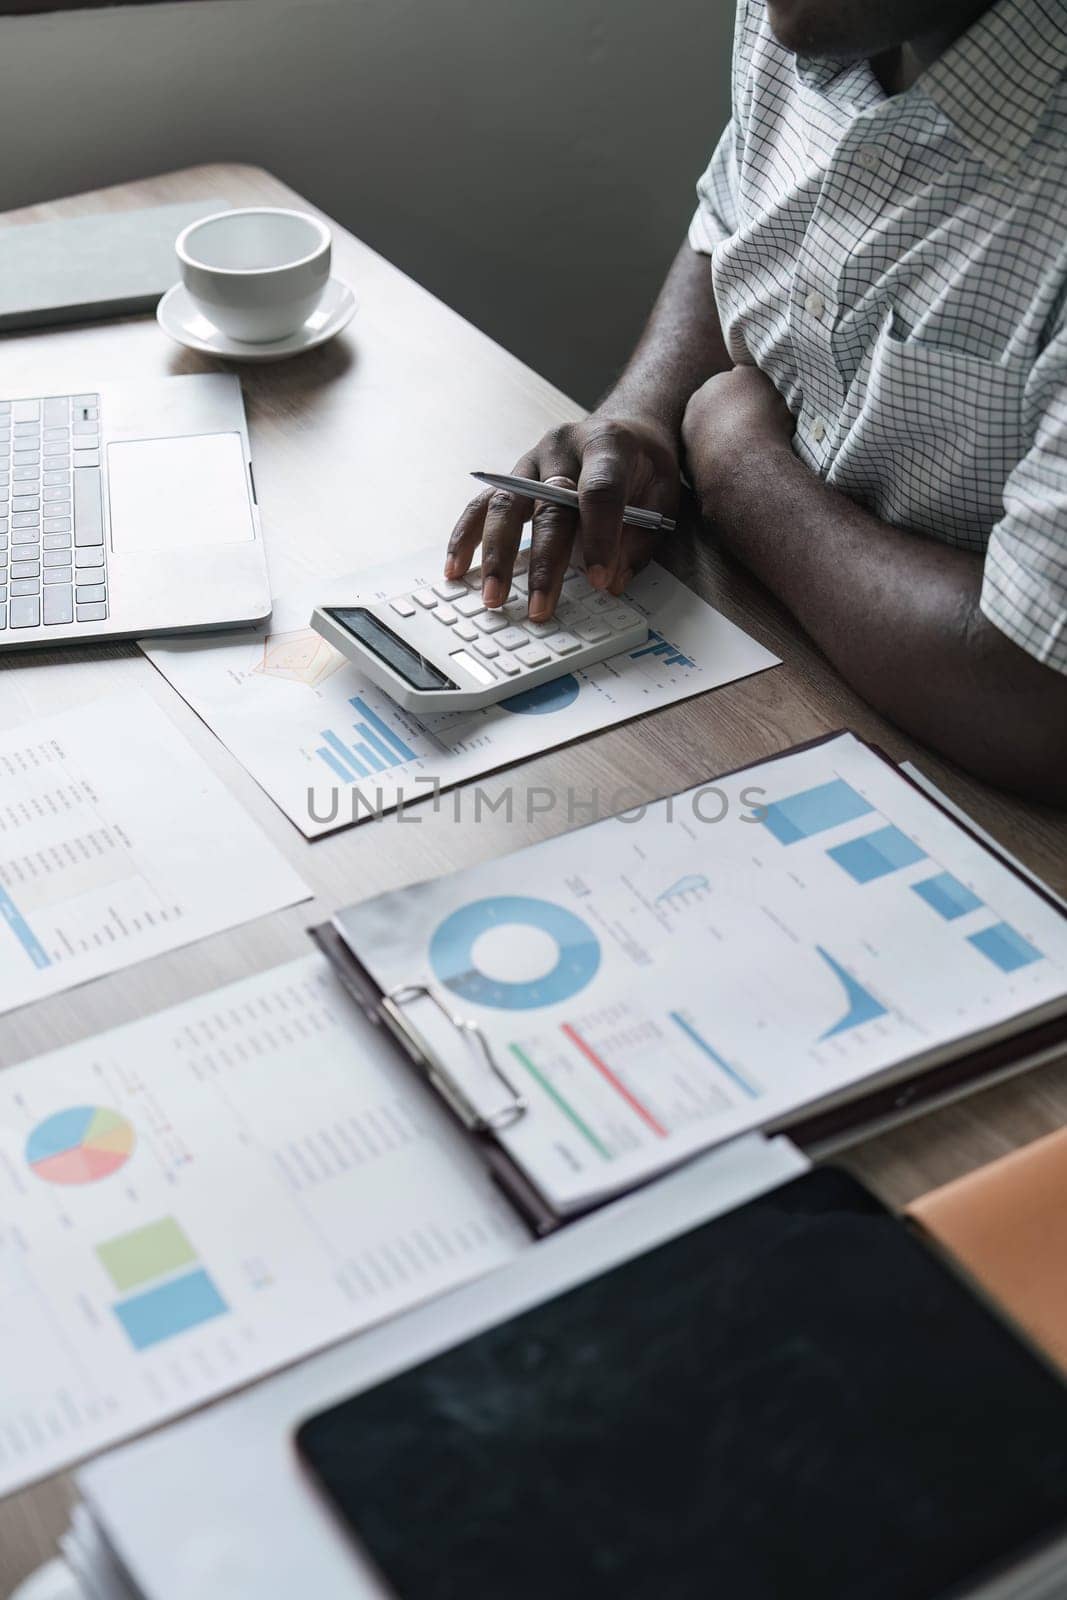
[[[984,550],[984,614],[1067,672],[1067,0],[998,0],[907,93],[739,0],[689,229],[795,450],[885,522]]]

